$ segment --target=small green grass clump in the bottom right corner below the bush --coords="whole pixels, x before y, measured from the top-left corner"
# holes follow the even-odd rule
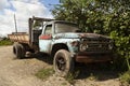
[[[120,75],[120,82],[130,84],[130,71],[127,71]]]

